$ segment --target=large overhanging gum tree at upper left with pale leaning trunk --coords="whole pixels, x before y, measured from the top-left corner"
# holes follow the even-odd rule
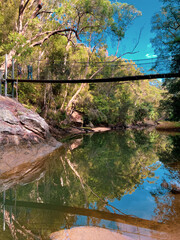
[[[109,43],[108,36],[114,42],[120,41],[129,24],[141,14],[132,5],[110,0],[10,0],[3,1],[1,8],[2,18],[10,17],[8,9],[12,12],[13,21],[5,26],[8,31],[2,36],[1,46],[1,56],[8,53],[9,63],[14,56],[26,59],[32,52],[37,56],[33,49],[46,52],[44,58],[48,58],[47,46],[59,42],[64,47],[61,60],[65,64],[68,56],[72,59],[75,53],[72,49],[84,50],[87,67],[82,78],[93,78],[100,72],[101,69],[89,72],[88,66],[100,47]],[[88,90],[88,84],[76,85],[69,98],[66,94],[69,89],[65,89],[66,102],[61,103],[61,110],[68,113],[83,89]]]

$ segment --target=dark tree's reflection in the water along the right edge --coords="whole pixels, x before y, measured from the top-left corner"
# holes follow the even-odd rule
[[[166,179],[169,189],[161,189],[152,196],[156,202],[155,220],[166,224],[171,233],[171,239],[180,236],[180,192],[173,192],[172,186],[180,188],[180,136],[168,136],[165,151],[159,152],[159,159],[168,170],[163,179]],[[167,143],[168,143],[167,142]]]

